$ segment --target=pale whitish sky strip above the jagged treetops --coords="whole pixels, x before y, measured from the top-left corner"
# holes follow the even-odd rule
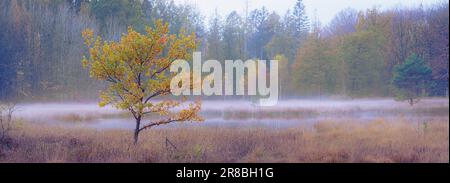
[[[217,9],[224,17],[233,10],[244,14],[246,0],[174,0],[177,4],[192,4],[196,6],[205,17],[210,17]],[[303,0],[308,17],[317,17],[323,24],[328,24],[341,10],[348,7],[356,10],[366,10],[374,6],[382,9],[394,7],[424,7],[442,2],[443,0]],[[265,6],[270,11],[280,15],[285,14],[288,9],[294,7],[296,0],[248,0],[249,10]]]

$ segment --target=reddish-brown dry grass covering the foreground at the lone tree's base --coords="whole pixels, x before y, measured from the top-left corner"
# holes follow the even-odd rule
[[[169,139],[175,146],[166,143]],[[131,131],[25,125],[0,162],[449,162],[449,121],[320,122],[313,127]]]

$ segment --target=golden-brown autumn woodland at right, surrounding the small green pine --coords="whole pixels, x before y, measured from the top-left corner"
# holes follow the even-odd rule
[[[417,56],[432,70],[426,95],[448,96],[448,10],[346,9],[327,26],[313,23],[284,85],[304,95],[392,96],[394,68]]]

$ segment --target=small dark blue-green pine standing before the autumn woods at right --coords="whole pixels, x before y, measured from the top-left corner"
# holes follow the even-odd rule
[[[431,86],[431,68],[416,54],[409,56],[402,64],[394,67],[394,85],[397,99],[408,100],[410,105],[419,101]]]

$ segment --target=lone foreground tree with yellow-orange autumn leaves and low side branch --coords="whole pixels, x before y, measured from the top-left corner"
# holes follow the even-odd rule
[[[138,142],[142,130],[173,122],[202,121],[198,115],[201,103],[197,101],[183,107],[185,97],[180,100],[156,97],[170,94],[170,81],[174,76],[169,72],[175,59],[189,59],[196,48],[196,38],[191,35],[169,34],[168,24],[158,21],[155,28],[146,28],[146,35],[128,28],[118,42],[103,42],[94,38],[92,30],[85,30],[83,38],[89,48],[89,56],[82,63],[90,70],[90,76],[108,83],[108,88],[100,93],[99,105],[114,105],[128,110],[136,120],[134,143]],[[175,107],[182,108],[174,110]],[[146,114],[157,113],[164,116],[159,121],[141,125]]]

